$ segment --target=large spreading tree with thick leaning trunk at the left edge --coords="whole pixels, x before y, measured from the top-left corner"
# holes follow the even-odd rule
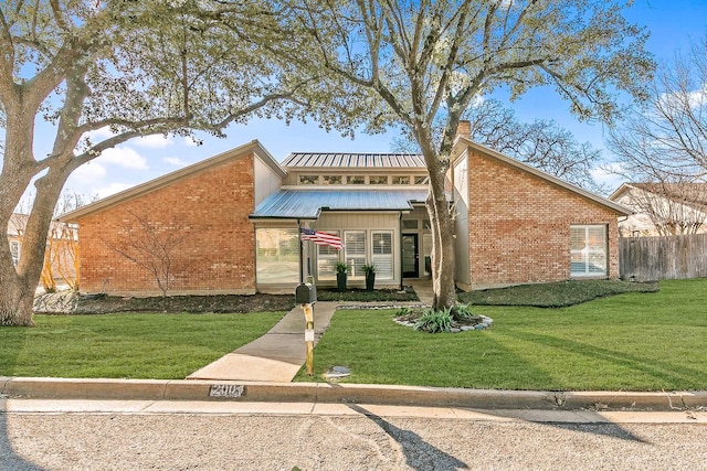
[[[247,30],[224,24],[221,3],[0,3],[0,227],[8,226],[25,190],[35,188],[17,269],[8,240],[0,239],[0,325],[33,323],[52,212],[80,165],[139,136],[191,130],[221,136],[231,122],[253,115],[317,114],[308,107],[310,98],[339,89],[326,79],[300,81],[286,62],[240,36]],[[271,2],[257,0],[229,6],[228,13],[243,24],[278,14]],[[338,116],[320,117],[328,126]],[[109,138],[92,138],[92,131],[106,127]],[[52,141],[49,154],[36,154],[38,139]]]

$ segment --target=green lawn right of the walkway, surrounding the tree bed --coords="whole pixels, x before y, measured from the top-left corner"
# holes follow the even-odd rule
[[[546,390],[707,389],[707,279],[560,309],[474,307],[488,331],[429,334],[394,311],[338,311],[315,349],[321,381]]]

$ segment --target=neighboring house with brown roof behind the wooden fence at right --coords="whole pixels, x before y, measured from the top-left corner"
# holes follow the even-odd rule
[[[707,183],[623,183],[609,199],[634,212],[619,221],[622,237],[707,232]]]

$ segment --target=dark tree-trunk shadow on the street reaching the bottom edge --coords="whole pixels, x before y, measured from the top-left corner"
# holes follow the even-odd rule
[[[407,464],[415,470],[429,470],[429,469],[468,469],[468,465],[454,458],[453,456],[440,450],[428,443],[418,433],[411,430],[403,430],[395,427],[382,417],[367,410],[366,408],[356,405],[347,404],[347,406],[367,418],[371,419],[377,426],[379,426],[386,433],[395,440],[402,448],[402,452],[405,456]]]

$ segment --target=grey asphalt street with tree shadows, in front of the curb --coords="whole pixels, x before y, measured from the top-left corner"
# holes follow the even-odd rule
[[[707,470],[707,413],[7,399],[0,469]]]

